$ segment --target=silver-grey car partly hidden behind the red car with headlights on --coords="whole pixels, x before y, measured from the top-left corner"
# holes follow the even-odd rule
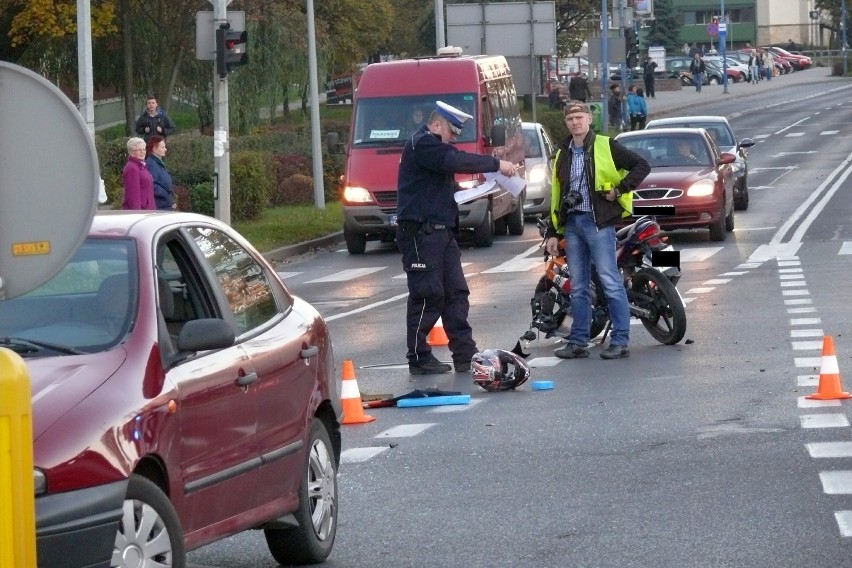
[[[743,138],[737,141],[728,119],[724,116],[676,116],[657,118],[648,122],[645,128],[703,128],[721,152],[734,154],[737,159],[731,165],[734,170],[734,209],[748,209],[748,150],[754,146],[754,140]]]

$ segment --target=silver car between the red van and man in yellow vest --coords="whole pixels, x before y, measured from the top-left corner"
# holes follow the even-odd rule
[[[524,122],[521,129],[524,133],[524,165],[527,179],[524,216],[546,216],[550,213],[550,180],[556,148],[544,125]]]

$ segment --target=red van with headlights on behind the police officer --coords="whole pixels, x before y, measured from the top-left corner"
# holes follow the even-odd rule
[[[445,48],[447,49],[447,48]],[[453,55],[374,63],[364,69],[346,144],[343,234],[351,254],[369,240],[396,235],[396,188],[402,148],[441,100],[472,115],[455,143],[459,149],[493,154],[516,164],[523,177],[524,138],[512,73],[504,57]],[[329,137],[329,149],[336,144]],[[462,188],[484,180],[459,174]],[[524,195],[493,193],[459,206],[459,228],[472,231],[476,246],[491,246],[495,234],[524,232]]]

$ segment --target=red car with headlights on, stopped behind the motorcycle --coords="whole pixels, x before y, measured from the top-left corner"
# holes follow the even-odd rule
[[[623,132],[617,140],[651,165],[651,173],[633,192],[638,206],[666,208],[663,229],[710,229],[711,241],[734,230],[736,156],[719,152],[701,128],[654,128]]]

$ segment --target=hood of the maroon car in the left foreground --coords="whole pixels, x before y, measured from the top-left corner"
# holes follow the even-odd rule
[[[125,359],[121,347],[91,355],[25,359],[32,385],[33,439],[102,385]]]

